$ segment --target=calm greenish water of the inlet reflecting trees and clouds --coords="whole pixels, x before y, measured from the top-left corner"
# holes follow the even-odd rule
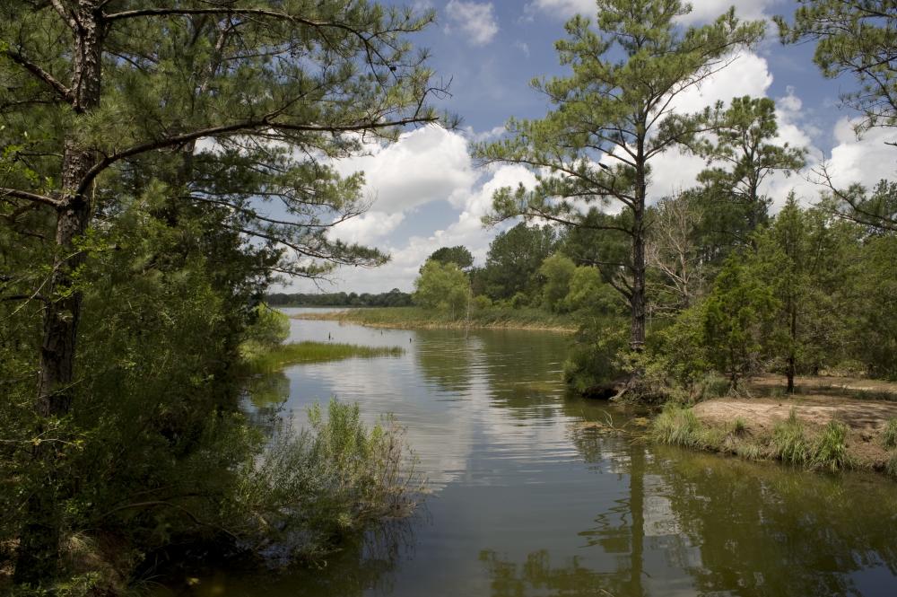
[[[297,310],[285,310],[295,312]],[[302,425],[330,396],[394,413],[431,496],[313,573],[204,579],[199,595],[897,595],[897,484],[633,441],[633,413],[566,396],[568,339],[292,320],[292,340],[405,347],[292,367],[272,396]],[[589,424],[592,425],[589,425]]]

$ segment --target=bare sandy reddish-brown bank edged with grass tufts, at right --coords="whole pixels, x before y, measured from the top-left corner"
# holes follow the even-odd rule
[[[660,443],[783,461],[808,470],[875,470],[897,478],[897,383],[805,377],[786,397],[779,381],[753,381],[757,398],[668,405],[650,426]]]

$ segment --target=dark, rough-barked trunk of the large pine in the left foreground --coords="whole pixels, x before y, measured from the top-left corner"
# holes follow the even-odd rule
[[[75,121],[100,105],[102,31],[98,0],[77,0],[67,24],[74,31],[72,106]],[[83,264],[75,242],[87,229],[91,215],[88,189],[82,189],[95,158],[79,147],[74,136],[65,142],[62,188],[57,194],[56,254],[49,280],[49,301],[44,311],[40,346],[38,392],[35,410],[44,420],[42,433],[52,419],[65,417],[72,408],[74,356],[81,318],[82,294],[73,288],[74,272]],[[33,490],[26,508],[14,580],[37,585],[57,575],[61,515],[59,503],[67,490],[57,473],[55,443],[39,443],[32,452],[34,470],[43,471],[43,487]]]

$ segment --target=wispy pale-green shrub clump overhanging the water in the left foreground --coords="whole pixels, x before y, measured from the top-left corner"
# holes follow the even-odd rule
[[[309,408],[309,428],[284,432],[240,472],[234,518],[264,557],[319,558],[351,536],[414,510],[422,479],[391,418],[361,421],[357,404]]]

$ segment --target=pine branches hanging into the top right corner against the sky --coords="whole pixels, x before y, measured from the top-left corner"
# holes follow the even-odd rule
[[[816,42],[826,77],[857,77],[842,100],[863,114],[858,132],[897,126],[897,5],[893,0],[798,0],[794,22],[775,17],[782,43]]]

